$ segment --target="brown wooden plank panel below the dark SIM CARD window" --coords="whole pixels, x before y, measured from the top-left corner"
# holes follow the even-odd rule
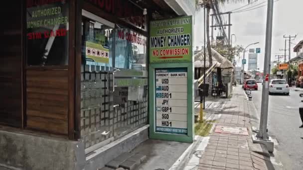
[[[26,125],[68,134],[68,71],[26,71]]]

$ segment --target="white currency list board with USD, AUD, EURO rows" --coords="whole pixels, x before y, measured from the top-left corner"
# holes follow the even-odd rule
[[[155,69],[155,131],[187,134],[187,68]]]

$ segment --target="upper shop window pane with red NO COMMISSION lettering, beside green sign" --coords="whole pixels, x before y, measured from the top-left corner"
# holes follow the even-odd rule
[[[147,37],[129,29],[115,31],[115,67],[147,70]]]

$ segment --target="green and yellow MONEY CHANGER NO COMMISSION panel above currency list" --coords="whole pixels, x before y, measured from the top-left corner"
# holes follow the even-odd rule
[[[192,17],[151,21],[150,62],[190,62]]]

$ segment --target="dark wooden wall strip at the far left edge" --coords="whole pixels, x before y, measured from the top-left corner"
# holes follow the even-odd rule
[[[15,127],[22,127],[21,1],[0,5],[0,124]]]

